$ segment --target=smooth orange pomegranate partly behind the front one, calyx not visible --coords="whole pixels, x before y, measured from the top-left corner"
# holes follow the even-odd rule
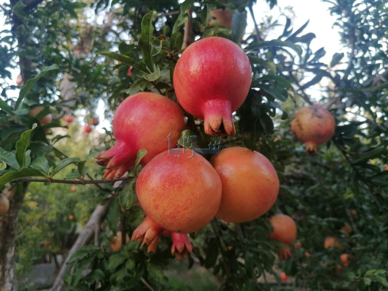
[[[259,152],[229,147],[211,159],[222,181],[217,217],[227,222],[247,222],[266,213],[279,193],[274,166]]]

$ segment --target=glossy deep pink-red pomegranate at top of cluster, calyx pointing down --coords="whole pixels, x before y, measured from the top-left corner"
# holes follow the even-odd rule
[[[173,81],[180,105],[204,120],[208,134],[234,135],[232,113],[251,87],[249,59],[236,43],[221,37],[197,40],[175,66]]]

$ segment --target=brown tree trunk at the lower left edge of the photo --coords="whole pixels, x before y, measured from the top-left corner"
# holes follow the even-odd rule
[[[27,184],[7,184],[3,194],[9,199],[9,210],[0,217],[0,290],[16,291],[15,238],[17,218],[26,194]]]

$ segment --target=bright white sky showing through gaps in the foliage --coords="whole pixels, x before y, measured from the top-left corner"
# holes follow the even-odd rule
[[[0,0],[0,3],[3,4],[8,1]],[[260,25],[263,17],[266,15],[272,15],[274,18],[277,18],[280,13],[279,9],[284,10],[284,7],[290,5],[294,10],[295,18],[291,24],[294,28],[294,31],[300,28],[307,20],[309,24],[307,28],[301,33],[301,35],[313,32],[316,35],[316,38],[312,40],[310,48],[315,52],[316,50],[324,47],[326,50],[326,55],[320,60],[326,64],[329,64],[331,57],[336,52],[341,52],[343,50],[340,44],[340,37],[338,30],[333,28],[333,23],[335,18],[329,14],[329,3],[322,2],[320,0],[299,0],[299,1],[290,1],[290,0],[277,0],[278,7],[274,7],[272,10],[269,9],[269,6],[264,0],[257,0],[257,3],[253,6],[253,11],[255,14],[256,22]],[[253,21],[251,15],[248,12],[248,27],[246,31],[253,31]],[[317,13],[318,12],[318,13]],[[279,19],[281,24],[286,23],[286,18],[283,16]],[[9,29],[9,27],[4,26],[5,19],[0,17],[0,30]],[[283,27],[279,27],[274,31],[273,38],[277,38],[277,35],[282,32]],[[271,36],[271,35],[270,35]],[[267,40],[270,40],[271,37],[268,36]],[[16,85],[16,78],[19,72],[17,70],[12,71],[12,80],[11,84]],[[15,92],[17,96],[18,92]],[[308,94],[312,94],[314,99],[319,99],[319,91],[311,90]],[[314,96],[315,95],[315,96]],[[106,127],[107,129],[111,128],[109,121],[104,119],[104,102],[99,102],[97,109],[97,114],[99,115],[100,124],[96,127],[97,130],[101,130]]]

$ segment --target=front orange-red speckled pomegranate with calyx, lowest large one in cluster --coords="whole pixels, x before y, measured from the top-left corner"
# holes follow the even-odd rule
[[[179,151],[178,151],[179,152]],[[146,218],[133,232],[133,241],[143,241],[156,250],[165,230],[188,234],[208,224],[221,201],[222,184],[211,164],[186,149],[180,154],[162,152],[140,172],[136,194]]]

